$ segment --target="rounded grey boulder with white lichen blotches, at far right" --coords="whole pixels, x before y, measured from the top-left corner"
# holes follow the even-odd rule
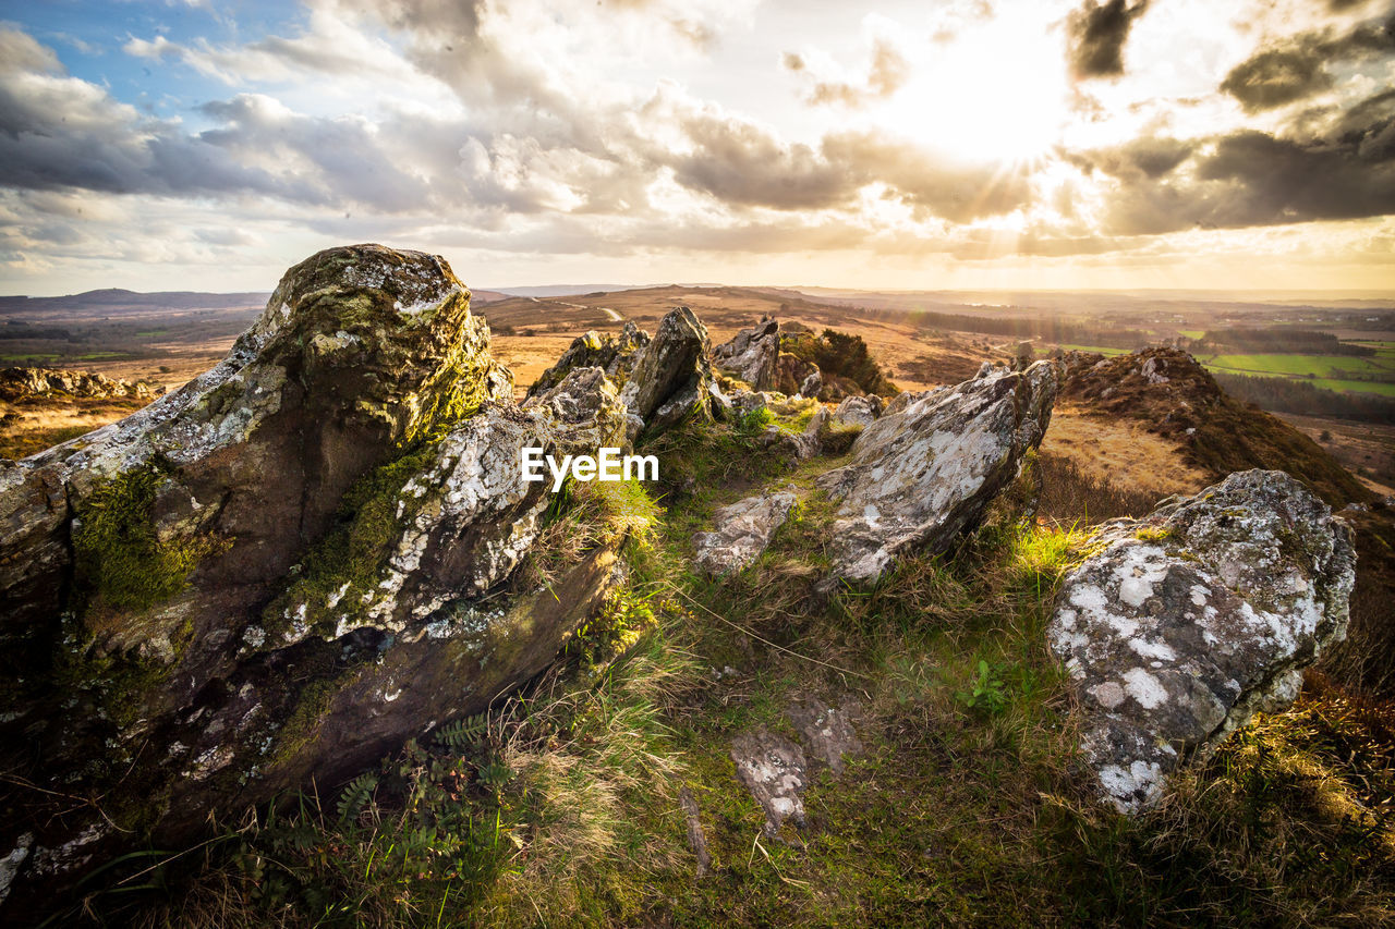
[[[1048,626],[1084,713],[1081,750],[1122,812],[1257,711],[1346,636],[1350,530],[1282,471],[1242,471],[1101,527]]]

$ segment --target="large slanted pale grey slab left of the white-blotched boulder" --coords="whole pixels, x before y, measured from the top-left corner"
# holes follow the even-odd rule
[[[865,427],[852,462],[817,481],[841,502],[834,575],[873,579],[898,552],[942,551],[975,526],[1041,444],[1055,396],[1046,361],[990,368]]]

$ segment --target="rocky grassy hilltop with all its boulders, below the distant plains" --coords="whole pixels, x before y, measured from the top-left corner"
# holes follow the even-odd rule
[[[234,364],[0,470],[7,919],[1395,918],[1388,579],[1363,548],[1348,593],[1322,498],[1363,495],[1357,547],[1389,511],[1184,353],[1031,364],[746,289],[491,303],[491,340],[378,247],[278,294]],[[903,391],[739,386],[824,325]],[[554,495],[530,442],[657,480]]]

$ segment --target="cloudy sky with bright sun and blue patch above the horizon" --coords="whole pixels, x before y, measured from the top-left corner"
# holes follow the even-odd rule
[[[1389,0],[0,0],[0,293],[1395,296]]]

